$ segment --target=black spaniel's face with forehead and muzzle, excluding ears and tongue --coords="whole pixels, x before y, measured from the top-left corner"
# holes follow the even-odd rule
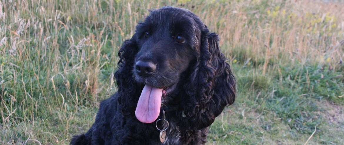
[[[201,30],[190,11],[165,8],[151,11],[137,25],[136,37],[139,48],[133,67],[136,81],[169,93],[196,59]]]

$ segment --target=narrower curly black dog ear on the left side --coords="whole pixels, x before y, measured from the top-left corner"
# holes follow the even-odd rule
[[[116,79],[118,91],[120,92],[123,90],[122,88],[130,88],[133,79],[132,68],[135,63],[135,55],[139,51],[136,38],[136,35],[133,35],[131,39],[123,42],[118,51],[118,70],[115,72],[114,79]]]

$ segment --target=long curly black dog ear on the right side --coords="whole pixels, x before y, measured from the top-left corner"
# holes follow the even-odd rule
[[[183,108],[185,117],[182,122],[190,129],[208,127],[226,105],[235,100],[235,78],[218,41],[218,35],[209,33],[205,26],[199,57],[190,75],[190,83],[185,84],[188,101]]]

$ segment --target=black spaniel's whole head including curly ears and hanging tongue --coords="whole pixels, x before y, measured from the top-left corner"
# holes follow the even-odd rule
[[[118,54],[115,77],[119,90],[134,82],[144,86],[135,112],[141,122],[155,121],[161,99],[168,100],[164,98],[173,92],[185,94],[181,108],[185,109],[186,122],[207,113],[210,116],[206,118],[215,118],[225,105],[234,102],[235,79],[218,47],[218,37],[189,10],[152,10]],[[212,108],[216,110],[209,111]]]

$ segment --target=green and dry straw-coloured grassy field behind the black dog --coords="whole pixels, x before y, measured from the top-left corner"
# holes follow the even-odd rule
[[[94,122],[121,43],[163,5],[221,37],[236,102],[208,144],[344,144],[344,3],[0,1],[0,144],[68,144]],[[314,133],[314,134],[313,134]]]

